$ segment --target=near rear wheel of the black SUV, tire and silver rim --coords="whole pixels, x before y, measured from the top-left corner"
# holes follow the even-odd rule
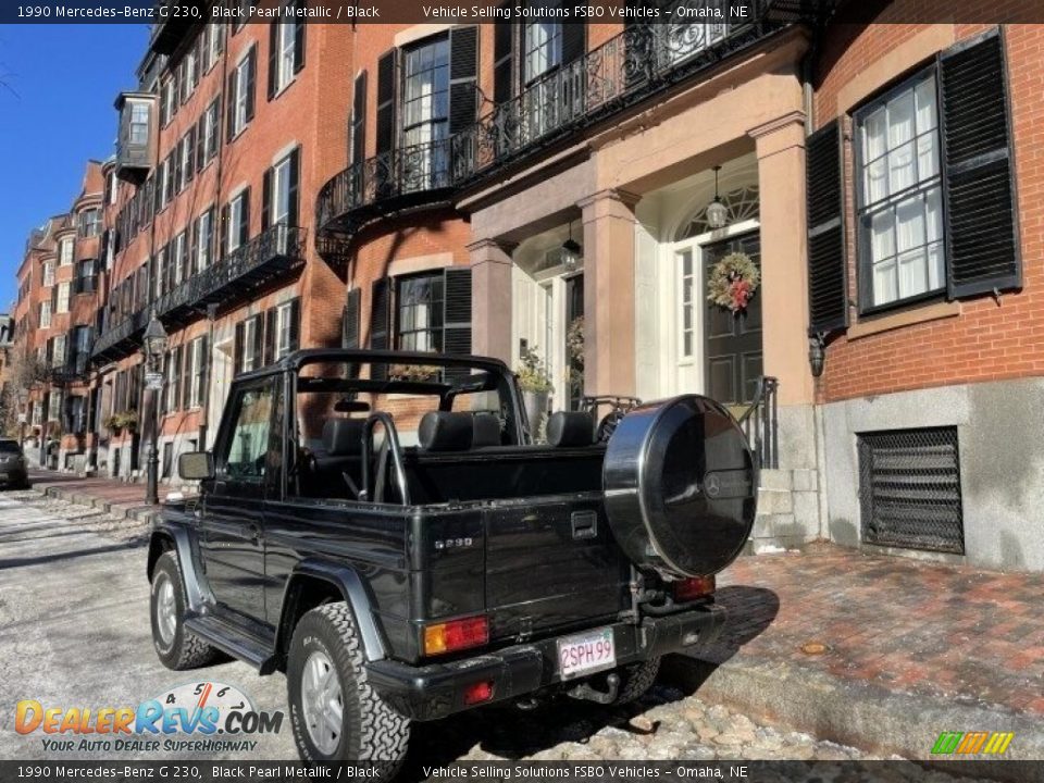
[[[294,629],[286,669],[294,741],[304,761],[366,761],[378,780],[406,756],[410,721],[366,682],[351,610],[344,601],[304,614]]]

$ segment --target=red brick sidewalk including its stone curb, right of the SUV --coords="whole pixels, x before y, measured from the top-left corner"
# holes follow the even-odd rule
[[[1044,759],[1044,575],[816,544],[741,558],[718,600],[722,638],[668,666],[704,699],[907,758],[997,731],[1005,759]]]

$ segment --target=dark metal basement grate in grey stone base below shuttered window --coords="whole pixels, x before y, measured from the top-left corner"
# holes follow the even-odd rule
[[[965,554],[957,427],[857,435],[862,540]]]

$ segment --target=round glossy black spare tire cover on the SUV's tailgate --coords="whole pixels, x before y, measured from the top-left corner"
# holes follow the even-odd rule
[[[754,525],[754,455],[729,411],[699,395],[627,413],[609,440],[602,486],[621,548],[661,572],[721,571]]]

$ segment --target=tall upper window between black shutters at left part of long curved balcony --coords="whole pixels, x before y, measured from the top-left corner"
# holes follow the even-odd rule
[[[430,144],[446,138],[448,119],[449,39],[440,36],[403,52],[403,144]]]

